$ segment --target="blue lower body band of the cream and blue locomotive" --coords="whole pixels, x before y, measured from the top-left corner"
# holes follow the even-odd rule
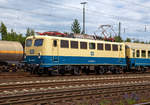
[[[125,58],[75,57],[75,56],[27,56],[28,64],[40,64],[41,67],[56,65],[120,65],[126,66]]]

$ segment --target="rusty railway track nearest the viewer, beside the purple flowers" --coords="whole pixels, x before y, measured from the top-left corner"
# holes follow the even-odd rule
[[[109,99],[123,97],[125,94],[149,94],[150,82],[122,82],[112,84],[90,84],[81,86],[66,86],[59,88],[43,88],[39,90],[18,91],[11,95],[0,97],[0,105],[69,105],[82,103],[87,99]],[[119,98],[119,99],[120,99]]]

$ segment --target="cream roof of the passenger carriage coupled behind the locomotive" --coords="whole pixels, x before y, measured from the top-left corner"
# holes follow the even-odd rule
[[[150,44],[131,43],[131,42],[125,42],[125,44],[132,49],[150,50]]]

